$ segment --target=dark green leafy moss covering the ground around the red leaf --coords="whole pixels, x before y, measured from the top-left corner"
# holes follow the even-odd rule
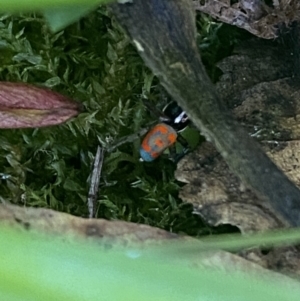
[[[240,32],[197,19],[199,48],[213,81],[215,63],[227,56]],[[153,117],[141,101],[162,106],[157,79],[122,28],[99,8],[56,34],[36,15],[0,18],[0,80],[48,87],[83,104],[61,126],[0,131],[0,198],[87,216],[87,195],[97,146],[147,127]],[[105,154],[97,217],[201,235],[213,230],[178,198],[175,164],[161,157],[139,161],[140,139]]]

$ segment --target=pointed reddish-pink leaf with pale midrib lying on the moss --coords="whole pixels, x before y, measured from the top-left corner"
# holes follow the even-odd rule
[[[80,112],[80,104],[51,90],[0,82],[0,128],[35,128],[63,123]]]

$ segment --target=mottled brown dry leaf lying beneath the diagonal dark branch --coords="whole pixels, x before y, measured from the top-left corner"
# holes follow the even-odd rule
[[[259,51],[257,51],[259,49]],[[248,133],[261,141],[266,154],[300,185],[300,85],[289,49],[253,39],[219,64],[217,90]],[[238,143],[238,141],[237,141]],[[208,142],[179,162],[176,178],[188,183],[180,197],[213,226],[230,224],[243,234],[285,227],[264,199],[245,187]],[[265,179],[268,181],[268,178]],[[260,265],[300,275],[300,248],[282,247],[241,254]]]

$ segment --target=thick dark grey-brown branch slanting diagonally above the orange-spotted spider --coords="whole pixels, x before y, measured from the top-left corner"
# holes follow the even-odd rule
[[[192,2],[131,2],[111,7],[146,64],[232,171],[291,225],[300,225],[300,191],[233,119],[205,72],[195,39]]]

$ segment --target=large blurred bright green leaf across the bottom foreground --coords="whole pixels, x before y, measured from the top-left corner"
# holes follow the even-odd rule
[[[183,253],[182,242],[124,248],[3,226],[0,241],[0,300],[5,301],[298,301],[300,296],[300,287],[288,278],[282,284],[266,275],[187,264],[184,258],[193,253]]]

